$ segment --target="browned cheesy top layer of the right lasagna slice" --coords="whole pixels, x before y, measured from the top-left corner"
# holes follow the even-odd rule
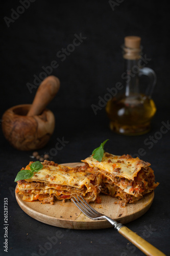
[[[140,160],[138,157],[132,158],[129,155],[115,156],[107,152],[104,153],[102,161],[99,162],[92,156],[82,160],[90,167],[98,167],[111,173],[113,176],[134,180],[139,170],[150,166],[150,163]]]

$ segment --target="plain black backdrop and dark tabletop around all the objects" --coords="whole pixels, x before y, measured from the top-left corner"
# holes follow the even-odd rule
[[[116,3],[116,1],[115,1]],[[118,3],[118,1],[117,1]],[[1,1],[1,118],[11,106],[31,103],[32,93],[27,83],[39,76],[42,66],[56,60],[59,67],[52,74],[61,82],[57,96],[48,105],[56,117],[55,132],[39,154],[50,152],[57,138],[66,146],[52,160],[58,163],[79,162],[89,156],[95,147],[109,139],[105,150],[115,154],[136,154],[144,148],[142,159],[151,162],[156,181],[150,210],[127,226],[142,236],[144,226],[152,226],[146,239],[169,254],[169,131],[149,149],[144,140],[160,131],[162,121],[169,120],[169,8],[167,1],[122,1],[112,10],[108,1],[44,1],[36,0],[9,24],[11,9],[19,1]],[[64,61],[56,54],[66,48],[75,34],[86,37]],[[157,112],[152,130],[145,135],[125,137],[109,130],[105,109],[94,115],[91,104],[98,105],[107,88],[121,82],[123,58],[120,45],[127,35],[141,37],[143,54],[151,58],[147,67],[157,75],[153,99]],[[9,145],[1,131],[1,198],[9,202],[8,255],[38,254],[38,245],[60,230],[61,244],[53,246],[45,255],[143,255],[128,245],[128,241],[112,228],[103,230],[65,230],[40,223],[23,212],[14,197],[14,178],[22,166],[32,160],[32,152],[20,152]],[[1,223],[3,234],[3,223]],[[28,233],[28,235],[27,235]],[[1,247],[4,238],[1,241]],[[92,243],[91,243],[92,242]],[[10,249],[12,248],[12,249]],[[3,252],[2,255],[5,255]]]

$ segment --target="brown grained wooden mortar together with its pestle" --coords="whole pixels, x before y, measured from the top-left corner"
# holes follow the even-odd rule
[[[38,87],[32,104],[13,106],[4,113],[4,136],[17,150],[38,150],[49,141],[54,132],[55,117],[52,111],[45,108],[59,88],[59,79],[48,76]]]

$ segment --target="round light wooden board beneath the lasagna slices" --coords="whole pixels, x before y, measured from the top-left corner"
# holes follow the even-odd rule
[[[65,163],[63,165],[75,167],[83,164],[84,163]],[[23,201],[22,195],[18,195],[17,193],[15,193],[15,196],[19,206],[26,214],[45,224],[71,229],[100,229],[112,227],[106,220],[93,221],[89,219],[70,200],[67,200],[65,203],[56,200],[52,205],[41,204],[39,201]],[[90,205],[102,214],[125,224],[145,214],[153,202],[154,191],[144,196],[144,198],[136,203],[128,204],[125,208],[119,206],[116,198],[106,195],[101,195],[101,198],[101,204],[90,203]],[[115,201],[117,201],[117,204],[114,204]]]

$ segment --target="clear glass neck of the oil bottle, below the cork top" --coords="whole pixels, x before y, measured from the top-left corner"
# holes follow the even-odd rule
[[[139,59],[141,49],[130,49],[123,47],[124,57],[124,85],[127,97],[139,95]]]

